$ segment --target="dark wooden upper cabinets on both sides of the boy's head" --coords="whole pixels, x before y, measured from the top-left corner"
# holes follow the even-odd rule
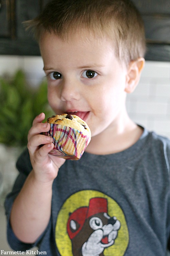
[[[22,24],[49,0],[0,0],[0,55],[39,55],[38,44]],[[147,60],[170,61],[170,0],[133,0],[142,14]]]

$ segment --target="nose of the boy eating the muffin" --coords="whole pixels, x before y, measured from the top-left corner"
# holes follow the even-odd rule
[[[74,82],[63,82],[61,85],[61,100],[71,101],[80,99],[80,90]]]

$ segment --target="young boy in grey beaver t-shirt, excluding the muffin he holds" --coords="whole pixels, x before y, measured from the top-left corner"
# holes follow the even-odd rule
[[[44,113],[35,118],[5,202],[11,247],[38,246],[48,256],[165,256],[170,141],[135,124],[125,107],[145,63],[138,11],[127,0],[55,0],[31,26],[50,106],[84,119],[92,139],[79,161],[49,155],[52,139],[41,134],[49,124]]]

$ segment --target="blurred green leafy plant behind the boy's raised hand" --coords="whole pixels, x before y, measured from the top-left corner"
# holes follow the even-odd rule
[[[28,86],[22,70],[11,79],[0,77],[0,143],[16,147],[27,145],[33,119],[41,112],[46,117],[52,115],[45,80],[33,89]]]

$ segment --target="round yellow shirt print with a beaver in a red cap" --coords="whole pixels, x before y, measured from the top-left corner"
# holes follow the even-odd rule
[[[123,256],[129,232],[115,200],[95,190],[83,190],[63,204],[55,241],[61,256]]]

